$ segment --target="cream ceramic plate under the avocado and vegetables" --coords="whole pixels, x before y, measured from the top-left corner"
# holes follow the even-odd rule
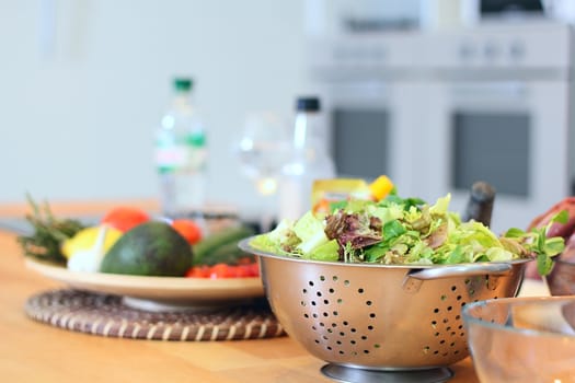
[[[142,277],[70,271],[33,258],[26,258],[25,263],[43,276],[72,288],[122,295],[127,304],[147,310],[221,306],[264,295],[260,278]]]

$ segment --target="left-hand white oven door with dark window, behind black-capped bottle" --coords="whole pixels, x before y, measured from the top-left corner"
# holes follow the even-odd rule
[[[402,195],[415,190],[412,138],[422,126],[421,84],[354,81],[324,88],[332,153],[340,177],[367,181],[386,174]]]

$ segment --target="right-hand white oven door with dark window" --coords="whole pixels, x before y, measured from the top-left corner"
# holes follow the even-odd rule
[[[463,211],[475,181],[496,189],[492,229],[529,222],[571,192],[566,81],[437,82],[418,161],[424,198],[450,192]]]

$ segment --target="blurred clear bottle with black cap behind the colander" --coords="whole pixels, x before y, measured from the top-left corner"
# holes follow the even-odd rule
[[[279,219],[303,216],[311,209],[313,181],[335,177],[323,128],[320,100],[297,98],[291,158],[284,166],[279,186]]]

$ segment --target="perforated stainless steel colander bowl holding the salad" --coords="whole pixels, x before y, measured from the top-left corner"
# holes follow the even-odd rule
[[[326,362],[375,370],[447,367],[469,355],[461,307],[515,297],[525,260],[449,266],[313,262],[240,247],[260,257],[274,314]]]

